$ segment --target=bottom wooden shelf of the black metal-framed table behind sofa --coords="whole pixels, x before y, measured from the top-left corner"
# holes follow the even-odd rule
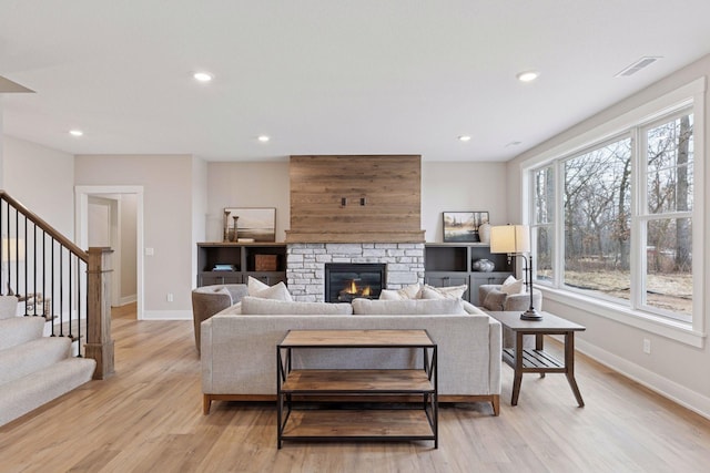
[[[422,409],[292,410],[282,440],[436,440]]]

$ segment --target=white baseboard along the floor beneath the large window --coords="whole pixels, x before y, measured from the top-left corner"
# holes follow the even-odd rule
[[[651,391],[710,419],[710,398],[577,338],[576,349]],[[582,387],[584,389],[584,387]]]

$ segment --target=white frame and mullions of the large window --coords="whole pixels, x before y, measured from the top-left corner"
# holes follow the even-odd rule
[[[581,132],[578,135],[564,141],[562,143],[550,147],[547,151],[544,151],[535,156],[520,162],[519,172],[521,182],[526,182],[530,179],[530,173],[535,169],[539,169],[545,165],[552,163],[554,169],[556,173],[556,188],[555,188],[555,205],[556,209],[559,210],[562,208],[561,205],[561,188],[564,186],[564,176],[560,169],[561,161],[566,157],[574,156],[576,153],[584,151],[585,148],[598,145],[604,143],[606,140],[609,140],[613,136],[619,136],[625,130],[637,130],[641,126],[647,126],[652,122],[665,117],[666,115],[672,114],[682,109],[687,109],[689,105],[692,105],[693,121],[694,121],[694,130],[701,130],[701,133],[693,133],[693,145],[694,145],[694,175],[697,176],[696,185],[693,189],[696,192],[694,196],[694,205],[692,210],[692,226],[693,226],[693,266],[697,268],[693,270],[693,308],[692,308],[692,327],[689,323],[684,323],[682,321],[673,320],[672,318],[667,318],[663,316],[656,316],[651,313],[646,313],[640,310],[626,309],[622,306],[618,306],[611,302],[606,302],[604,300],[597,298],[590,298],[586,296],[577,295],[572,291],[566,291],[564,289],[557,289],[562,287],[561,280],[561,268],[564,268],[564,255],[560,250],[560,241],[564,241],[564,225],[561,222],[562,215],[560,212],[555,213],[555,236],[556,236],[556,250],[554,251],[554,286],[555,288],[546,288],[549,294],[549,297],[552,300],[556,300],[560,304],[565,304],[567,306],[581,307],[590,313],[600,315],[602,317],[607,317],[609,319],[616,320],[621,323],[626,323],[631,327],[640,328],[642,330],[647,330],[652,333],[657,333],[662,337],[667,337],[677,341],[681,341],[683,343],[690,345],[692,347],[702,348],[704,345],[704,339],[707,337],[706,333],[706,307],[708,306],[708,296],[706,291],[702,290],[704,288],[707,277],[710,275],[710,263],[704,259],[704,238],[703,235],[707,235],[704,215],[702,208],[704,208],[708,199],[706,198],[706,194],[708,193],[708,188],[710,186],[710,178],[706,176],[706,150],[704,150],[704,113],[706,113],[706,90],[707,90],[707,80],[704,76],[701,76],[686,85],[682,85],[665,95],[661,95],[655,100],[651,100],[642,105],[639,105],[621,115],[612,117],[607,122],[595,126],[586,132]],[[574,131],[574,128],[572,128]],[[633,140],[632,158],[636,161],[635,169],[637,173],[636,181],[639,181],[638,173],[640,172],[640,167],[638,166],[638,160],[640,158],[638,147],[640,145],[639,137],[636,136],[635,133],[631,134],[631,138]],[[704,189],[702,193],[700,191]],[[631,219],[632,232],[636,235],[635,240],[640,241],[641,227],[639,219],[638,206],[641,204],[638,202],[638,193],[639,188],[637,186],[637,191],[632,193],[632,215]],[[528,205],[523,205],[521,208],[524,213],[528,215],[524,215],[523,219],[528,219],[530,213],[534,212],[532,203],[529,202],[531,198],[530,193],[523,194],[523,204],[527,200]],[[700,205],[699,205],[700,203]],[[643,238],[645,241],[645,238]],[[636,251],[633,251],[633,246],[636,246]],[[645,247],[645,246],[643,246]],[[642,246],[632,245],[631,251],[631,271],[636,275],[646,274],[642,270],[642,265],[645,261],[645,255],[641,253]],[[698,261],[702,261],[701,265],[698,265]],[[541,286],[541,287],[540,287]],[[545,287],[544,285],[538,285],[541,289]],[[632,300],[632,307],[641,307],[639,305],[640,300]]]

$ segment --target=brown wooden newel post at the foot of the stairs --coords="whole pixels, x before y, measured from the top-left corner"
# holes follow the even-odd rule
[[[87,263],[87,358],[97,360],[93,379],[113,374],[113,340],[111,339],[111,248],[89,248]]]

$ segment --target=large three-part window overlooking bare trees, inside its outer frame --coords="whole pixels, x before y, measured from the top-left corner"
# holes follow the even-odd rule
[[[536,280],[690,322],[693,152],[686,106],[531,169]]]

